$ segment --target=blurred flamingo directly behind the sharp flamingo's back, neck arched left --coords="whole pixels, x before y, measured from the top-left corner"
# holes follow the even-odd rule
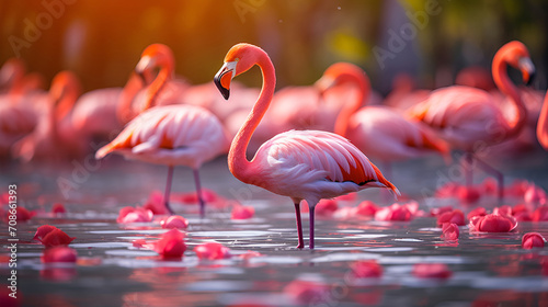
[[[369,158],[384,161],[389,170],[392,161],[408,160],[426,154],[449,155],[447,144],[425,124],[407,120],[385,105],[362,106],[369,95],[370,83],[362,68],[350,62],[330,66],[317,81],[321,92],[333,86],[352,83],[359,89],[353,102],[346,103],[335,123],[335,133],[349,138]]]

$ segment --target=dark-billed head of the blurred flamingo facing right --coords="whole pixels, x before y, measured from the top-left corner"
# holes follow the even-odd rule
[[[501,57],[510,66],[520,69],[523,81],[529,84],[535,77],[535,65],[530,60],[527,47],[518,41],[512,41],[502,46],[495,54],[495,58]],[[494,59],[493,59],[494,62]]]

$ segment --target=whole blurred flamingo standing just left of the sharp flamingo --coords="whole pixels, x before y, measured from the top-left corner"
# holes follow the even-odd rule
[[[164,45],[155,44],[147,48],[136,66],[137,73],[162,67],[157,79],[146,89],[144,107],[153,105],[157,93],[171,81],[173,76],[173,54]],[[196,194],[201,216],[205,214],[205,203],[199,183],[199,167],[227,151],[229,140],[222,124],[207,110],[185,104],[161,105],[145,110],[132,120],[110,144],[100,148],[96,159],[111,152],[127,159],[168,166],[164,206],[169,205],[174,166],[187,166],[194,172]]]

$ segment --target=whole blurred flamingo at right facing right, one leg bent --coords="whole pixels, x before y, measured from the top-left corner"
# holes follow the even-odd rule
[[[523,80],[527,83],[535,72],[527,47],[518,41],[503,45],[494,55],[492,75],[496,88],[507,95],[515,106],[515,115],[506,118],[496,104],[496,96],[480,89],[452,86],[437,89],[427,100],[409,111],[409,116],[418,118],[437,129],[449,144],[464,149],[465,160],[469,164],[477,161],[486,171],[498,178],[499,198],[503,197],[504,179],[482,160],[475,151],[487,146],[502,143],[515,137],[524,126],[527,110],[516,87],[510,80],[506,66],[521,70]],[[471,184],[471,170],[467,175],[468,185]]]

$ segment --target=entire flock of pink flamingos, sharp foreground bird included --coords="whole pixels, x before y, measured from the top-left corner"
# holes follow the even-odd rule
[[[255,65],[262,71],[261,90],[232,81]],[[535,130],[548,150],[548,99],[515,86],[507,66],[520,70],[525,83],[535,73],[526,46],[514,41],[494,55],[494,86],[481,71],[463,72],[459,84],[433,91],[416,90],[400,77],[379,104],[366,72],[349,62],[332,65],[313,86],[275,92],[274,65],[263,49],[250,44],[230,48],[214,82],[198,86],[175,78],[171,49],[152,44],[124,88],[83,95],[70,71],[55,76],[45,92],[39,76],[25,73],[23,64],[11,59],[0,70],[0,155],[23,162],[67,161],[92,151],[92,141],[110,141],[94,152],[96,159],[119,154],[168,167],[163,205],[170,214],[173,168],[192,168],[204,216],[198,170],[228,152],[228,167],[237,179],[292,198],[298,248],[305,247],[300,203],[307,202],[313,249],[320,200],[367,187],[400,195],[387,180],[397,175],[389,167],[395,161],[429,154],[450,161],[453,149],[464,150],[459,162],[467,166],[468,184],[470,166],[481,167],[496,177],[502,198],[502,174],[476,152]]]

